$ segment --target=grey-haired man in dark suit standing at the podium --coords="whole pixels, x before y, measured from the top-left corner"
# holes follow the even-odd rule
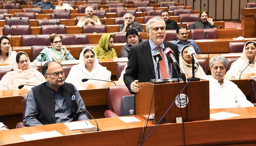
[[[170,49],[173,50],[174,57],[178,62],[178,46],[173,43],[164,41],[166,36],[165,26],[165,22],[161,18],[151,18],[146,23],[146,31],[149,39],[131,47],[128,55],[129,61],[124,74],[125,85],[131,93],[139,92],[138,82],[149,82],[150,79],[155,78],[155,72],[157,69],[153,56],[157,51],[157,47],[161,47],[161,51],[163,53],[162,57],[165,57],[166,60],[165,66],[167,68],[167,76],[171,78],[170,58],[165,55],[163,48],[170,47]],[[162,61],[164,62],[164,59]],[[177,78],[177,72],[175,68],[172,67],[172,69],[172,77]],[[178,72],[180,72],[179,68]],[[161,78],[166,78],[163,77],[164,73],[161,72],[160,74]],[[158,78],[158,76],[156,78]]]

